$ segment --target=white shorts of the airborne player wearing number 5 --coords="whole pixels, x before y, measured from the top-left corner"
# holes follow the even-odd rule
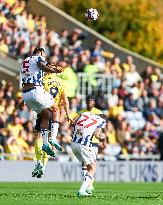
[[[52,95],[46,92],[43,86],[36,86],[35,89],[23,93],[23,100],[36,113],[54,104]]]

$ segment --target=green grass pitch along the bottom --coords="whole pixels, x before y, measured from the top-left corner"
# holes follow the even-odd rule
[[[95,183],[77,197],[79,183],[0,183],[1,205],[163,205],[163,183]]]

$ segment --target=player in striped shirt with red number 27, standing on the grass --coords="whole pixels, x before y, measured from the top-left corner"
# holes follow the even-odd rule
[[[92,147],[92,137],[104,139],[105,120],[90,112],[82,113],[74,123],[71,148],[77,159],[87,167],[87,173],[79,189],[78,196],[89,196],[89,185],[96,172],[96,153]]]

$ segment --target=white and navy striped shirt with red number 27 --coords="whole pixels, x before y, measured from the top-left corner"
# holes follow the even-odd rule
[[[100,116],[90,112],[84,112],[78,118],[72,142],[80,143],[85,146],[92,146],[92,137],[97,128],[104,128],[106,121]]]

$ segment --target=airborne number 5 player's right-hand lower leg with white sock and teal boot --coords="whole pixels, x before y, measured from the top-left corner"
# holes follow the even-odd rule
[[[51,121],[51,138],[49,139],[49,143],[52,146],[55,146],[55,148],[58,149],[59,151],[62,151],[62,147],[60,146],[57,140],[59,119],[60,119],[60,110],[53,108],[53,115]]]

